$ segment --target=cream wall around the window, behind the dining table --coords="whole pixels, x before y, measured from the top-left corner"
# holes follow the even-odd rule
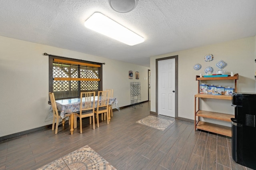
[[[130,105],[130,82],[141,83],[141,101],[148,100],[149,67],[25,42],[0,36],[0,136],[29,130],[45,122],[48,105],[48,53],[63,57],[106,63],[103,89],[114,89],[119,107]],[[140,79],[128,79],[128,71],[140,72]]]

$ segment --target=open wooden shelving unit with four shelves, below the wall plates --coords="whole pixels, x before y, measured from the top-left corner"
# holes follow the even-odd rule
[[[217,134],[222,134],[225,136],[232,136],[231,127],[226,127],[223,125],[217,125],[213,123],[207,123],[200,121],[200,117],[231,122],[231,118],[234,115],[225,114],[225,113],[217,113],[211,111],[203,111],[200,110],[200,98],[208,98],[208,99],[222,99],[222,100],[232,100],[232,96],[230,95],[211,95],[211,94],[200,94],[200,80],[234,80],[234,91],[236,92],[236,80],[238,80],[238,74],[235,74],[233,77],[228,75],[228,77],[200,77],[196,76],[196,80],[198,81],[198,94],[195,95],[195,110],[194,110],[194,119],[195,119],[195,130],[201,129],[209,132],[214,132]],[[197,109],[198,108],[198,109]],[[198,117],[198,120],[196,119]]]

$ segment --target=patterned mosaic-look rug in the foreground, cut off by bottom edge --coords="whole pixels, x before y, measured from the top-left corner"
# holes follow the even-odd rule
[[[86,145],[38,170],[116,170],[116,168]]]

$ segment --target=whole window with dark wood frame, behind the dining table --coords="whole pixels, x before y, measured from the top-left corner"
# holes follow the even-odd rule
[[[49,91],[56,99],[102,89],[102,63],[49,55]]]

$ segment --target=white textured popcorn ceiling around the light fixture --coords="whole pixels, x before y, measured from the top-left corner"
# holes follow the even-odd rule
[[[94,12],[145,42],[129,46],[88,30]],[[151,56],[255,35],[256,0],[139,0],[128,13],[108,0],[0,0],[0,36],[147,67]]]

